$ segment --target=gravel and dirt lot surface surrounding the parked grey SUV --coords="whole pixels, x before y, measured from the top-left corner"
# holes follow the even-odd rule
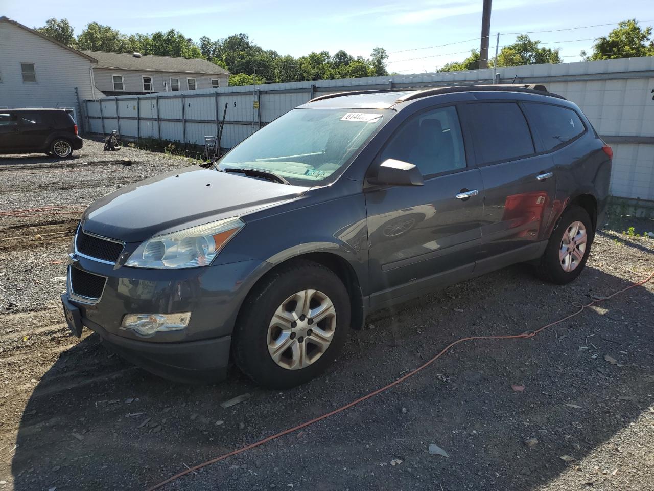
[[[143,490],[349,403],[456,338],[536,329],[654,271],[654,240],[604,229],[576,282],[512,266],[377,312],[328,373],[298,388],[264,390],[236,370],[220,384],[176,384],[88,330],[72,337],[60,311],[84,206],[188,165],[99,149],[87,141],[63,164],[0,157],[0,491]],[[653,334],[649,282],[535,338],[460,344],[391,390],[163,489],[649,491]]]

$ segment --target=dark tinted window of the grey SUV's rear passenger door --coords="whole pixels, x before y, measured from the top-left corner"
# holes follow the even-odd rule
[[[534,153],[529,126],[515,102],[466,105],[477,164],[515,160]]]

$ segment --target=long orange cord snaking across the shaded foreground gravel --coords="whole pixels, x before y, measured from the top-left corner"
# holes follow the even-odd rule
[[[364,395],[363,397],[359,397],[359,399],[356,399],[356,401],[352,401],[351,403],[348,403],[345,406],[339,407],[338,409],[334,409],[333,411],[326,412],[325,414],[322,414],[322,416],[318,416],[317,418],[313,418],[313,420],[309,420],[309,421],[304,422],[302,424],[298,424],[298,426],[294,426],[294,427],[289,428],[289,429],[284,429],[284,431],[280,431],[279,433],[275,433],[275,435],[271,435],[271,436],[269,436],[267,438],[264,438],[263,440],[260,440],[260,441],[255,442],[255,443],[250,443],[250,445],[245,445],[245,446],[243,446],[241,448],[238,448],[237,450],[233,450],[232,452],[229,452],[228,454],[224,454],[224,455],[221,455],[220,457],[216,457],[216,458],[213,458],[211,460],[207,460],[207,462],[203,462],[202,464],[198,464],[195,467],[190,467],[190,469],[186,469],[185,471],[182,471],[179,474],[175,474],[173,477],[169,477],[168,479],[166,479],[165,481],[160,482],[159,484],[155,484],[151,488],[148,488],[147,491],[154,491],[156,489],[159,489],[162,486],[165,486],[165,484],[168,484],[169,482],[173,482],[173,481],[175,481],[175,479],[178,479],[179,477],[182,477],[182,476],[184,476],[184,475],[186,475],[188,473],[197,471],[198,469],[201,469],[202,467],[206,467],[207,465],[211,465],[211,464],[215,464],[216,462],[220,462],[220,460],[225,460],[228,457],[232,457],[234,455],[241,454],[241,453],[245,452],[246,450],[250,450],[250,448],[254,448],[256,446],[264,445],[264,443],[268,443],[271,440],[275,440],[275,439],[277,439],[279,437],[283,437],[284,435],[288,435],[288,433],[293,433],[294,431],[298,431],[298,429],[305,428],[305,427],[307,427],[309,425],[317,423],[318,421],[322,421],[322,420],[324,420],[326,418],[329,418],[330,416],[334,416],[334,414],[338,414],[339,412],[343,412],[344,410],[349,409],[349,408],[353,407],[354,405],[357,405],[358,403],[361,403],[363,401],[366,401],[367,399],[370,399],[371,397],[373,397],[374,395],[377,395],[380,392],[388,390],[391,387],[394,387],[394,386],[400,384],[401,382],[404,382],[404,380],[406,380],[407,378],[417,374],[422,369],[425,369],[426,367],[428,367],[429,365],[434,363],[434,361],[436,361],[441,356],[443,356],[445,353],[447,353],[447,351],[450,348],[452,348],[453,346],[456,346],[456,344],[462,343],[464,341],[481,340],[481,339],[521,339],[521,338],[522,339],[528,339],[528,338],[532,338],[532,337],[536,336],[538,333],[541,333],[542,331],[547,329],[548,327],[552,327],[553,325],[557,325],[559,323],[562,323],[562,322],[564,322],[564,321],[566,321],[568,319],[573,318],[574,316],[578,316],[587,307],[593,306],[594,304],[597,304],[599,302],[604,302],[605,300],[612,299],[616,295],[620,295],[621,293],[624,293],[625,291],[627,291],[628,289],[631,289],[633,287],[644,285],[645,283],[649,282],[649,280],[651,280],[653,277],[654,277],[654,272],[651,272],[649,274],[649,276],[647,276],[647,278],[645,278],[645,280],[643,280],[642,282],[633,283],[632,285],[629,285],[628,287],[625,287],[625,288],[623,288],[621,290],[616,291],[615,293],[612,293],[608,297],[604,297],[604,298],[598,299],[598,300],[593,300],[592,302],[590,302],[588,304],[585,304],[585,305],[574,302],[573,305],[579,307],[579,310],[577,310],[577,312],[574,312],[573,314],[570,314],[569,316],[566,316],[566,317],[564,317],[562,319],[559,319],[558,321],[554,321],[554,322],[551,322],[551,323],[549,323],[547,325],[543,325],[543,327],[540,327],[540,329],[536,329],[536,331],[527,331],[526,333],[517,334],[517,335],[470,336],[470,337],[467,337],[467,338],[457,339],[456,341],[451,342],[450,344],[445,346],[445,348],[443,348],[443,350],[438,355],[436,355],[432,359],[426,361],[425,363],[423,363],[417,369],[415,369],[415,370],[407,373],[406,375],[398,378],[394,382],[390,382],[390,384],[388,384],[387,386],[383,386],[382,388],[377,389],[375,391],[372,391],[372,392]]]

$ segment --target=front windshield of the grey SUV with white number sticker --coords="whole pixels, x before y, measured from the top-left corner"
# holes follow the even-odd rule
[[[218,161],[218,168],[275,173],[313,186],[336,176],[381,127],[385,110],[294,109],[254,133]]]

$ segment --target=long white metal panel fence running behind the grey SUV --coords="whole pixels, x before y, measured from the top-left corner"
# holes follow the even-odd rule
[[[625,198],[654,200],[654,57],[628,58],[623,60],[602,60],[556,65],[526,65],[521,67],[500,67],[502,83],[542,83],[551,92],[571,100],[584,111],[598,134],[613,147],[613,173],[611,194]],[[257,86],[265,93],[258,95],[260,120],[263,123],[279,117],[286,111],[305,103],[311,98],[311,86],[318,89],[315,95],[356,90],[356,88],[385,88],[392,82],[395,88],[427,88],[429,86],[490,83],[493,69],[461,72],[426,73],[420,75],[393,75],[387,77],[366,77],[361,79],[324,80],[315,82],[289,82]],[[292,90],[293,92],[284,92]],[[215,90],[196,90],[195,94],[206,96],[186,98],[187,122],[186,141],[203,145],[205,135],[215,134],[216,96]],[[252,118],[258,120],[258,113],[252,110],[252,86],[220,88],[218,93],[218,117],[222,118],[224,103],[228,103],[221,145],[233,147],[252,134]],[[176,94],[177,95],[177,94]],[[145,98],[145,99],[144,99]],[[141,120],[137,128],[135,121],[124,120],[121,132],[124,136],[161,137],[162,139],[184,141],[184,128],[180,122],[156,124],[156,104],[141,96]],[[136,117],[135,101],[118,98],[120,115]],[[162,98],[161,118],[182,118],[181,96]],[[102,102],[105,115],[105,130],[117,129],[115,101]],[[125,107],[123,107],[125,106]],[[99,116],[99,103],[89,103],[90,115]],[[107,118],[112,115],[112,118]],[[188,122],[189,119],[212,122]],[[101,121],[91,119],[94,131],[101,132]],[[158,130],[161,128],[161,135]],[[256,126],[255,126],[256,128]],[[638,143],[645,140],[646,143]]]

